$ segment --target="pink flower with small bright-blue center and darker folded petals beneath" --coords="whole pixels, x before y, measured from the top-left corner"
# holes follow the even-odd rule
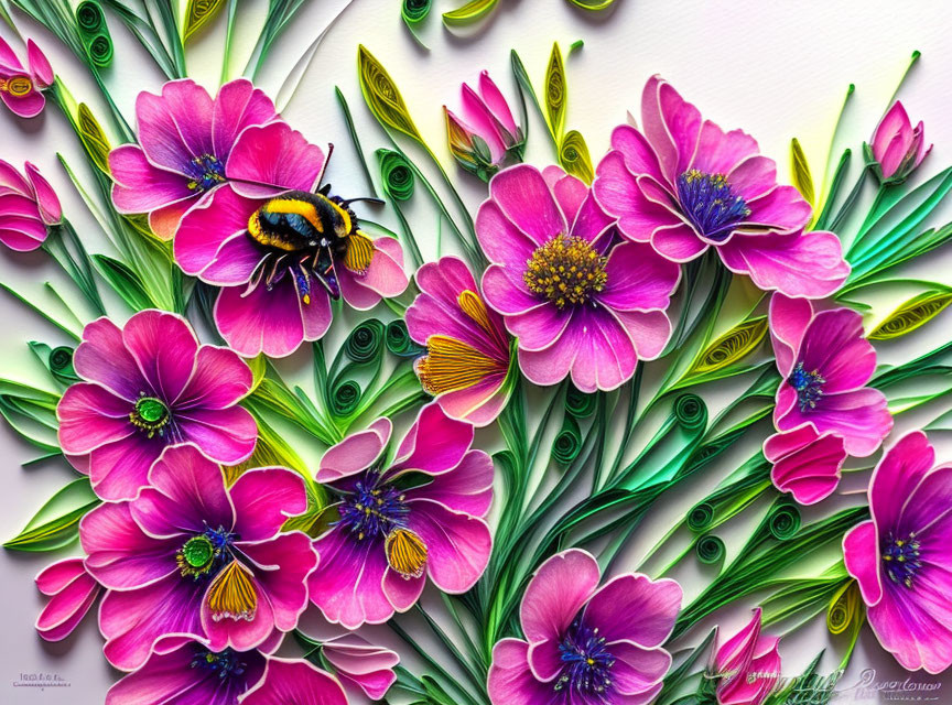
[[[846,455],[876,452],[892,429],[892,416],[883,392],[866,387],[876,370],[876,350],[855,311],[818,313],[805,299],[774,294],[770,337],[783,381],[774,408],[780,433],[767,441],[765,452],[776,464],[777,487],[810,505],[835,489]]]

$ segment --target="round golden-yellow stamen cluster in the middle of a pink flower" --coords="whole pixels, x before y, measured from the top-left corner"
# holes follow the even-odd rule
[[[532,253],[522,279],[529,291],[564,308],[605,289],[606,262],[588,240],[559,235]]]

